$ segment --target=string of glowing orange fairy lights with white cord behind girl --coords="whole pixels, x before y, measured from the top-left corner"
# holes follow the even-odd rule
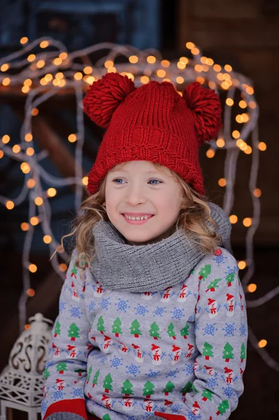
[[[76,186],[75,207],[79,211],[83,196],[83,189],[87,186],[87,176],[83,176],[82,152],[84,143],[83,121],[83,94],[88,85],[98,80],[106,72],[119,72],[126,74],[134,80],[136,87],[148,83],[149,80],[168,80],[180,87],[199,81],[206,84],[216,92],[226,95],[224,105],[224,126],[217,140],[208,142],[206,156],[213,159],[217,151],[224,149],[224,177],[218,184],[225,188],[224,211],[229,216],[232,225],[240,223],[238,216],[232,212],[234,206],[234,188],[236,181],[236,165],[241,153],[251,156],[249,190],[252,197],[251,216],[243,219],[242,223],[247,228],[245,238],[245,258],[238,261],[238,268],[245,269],[243,288],[245,293],[254,293],[257,284],[250,282],[255,272],[253,257],[253,237],[260,220],[259,197],[262,191],[257,188],[257,174],[259,168],[259,153],[266,150],[264,141],[258,139],[257,120],[259,110],[254,97],[254,88],[251,80],[234,71],[231,65],[220,66],[211,59],[202,55],[201,49],[194,43],[187,42],[186,49],[191,52],[191,57],[180,57],[178,60],[164,59],[157,50],[138,50],[132,46],[115,45],[112,43],[99,43],[83,50],[67,52],[63,43],[52,38],[39,38],[29,43],[28,38],[20,40],[22,48],[0,59],[0,89],[8,90],[15,86],[19,94],[26,95],[24,123],[20,141],[12,147],[8,145],[9,134],[1,134],[0,158],[8,156],[20,162],[24,174],[22,190],[15,198],[0,196],[0,202],[10,211],[29,200],[28,221],[22,221],[20,228],[26,232],[22,253],[23,288],[18,309],[20,314],[20,329],[29,328],[27,319],[27,300],[33,297],[36,291],[31,288],[30,276],[36,272],[37,267],[30,261],[31,243],[36,226],[41,224],[43,230],[42,240],[49,245],[50,255],[57,250],[57,254],[50,260],[53,269],[64,279],[66,262],[69,255],[57,242],[51,227],[50,200],[57,195],[57,189],[62,186]],[[105,50],[106,53],[94,65],[90,55],[96,51]],[[108,51],[108,52],[107,52]],[[121,60],[119,58],[121,57]],[[69,134],[68,140],[76,143],[75,148],[75,176],[59,178],[48,173],[41,161],[48,158],[48,151],[34,151],[34,137],[32,134],[32,119],[39,111],[43,102],[61,94],[63,90],[72,90],[76,94],[77,132]],[[180,94],[182,94],[180,92]],[[241,99],[236,99],[240,94]],[[232,111],[237,114],[234,117]],[[235,122],[233,121],[235,118]],[[237,124],[238,130],[231,129]],[[43,189],[42,181],[49,188]],[[230,245],[229,245],[230,247]],[[64,262],[59,262],[62,260]],[[247,307],[258,307],[279,293],[275,288],[256,300],[248,300]],[[267,353],[266,339],[258,340],[250,330],[250,343],[259,352],[259,355],[273,369],[279,371],[279,364]]]

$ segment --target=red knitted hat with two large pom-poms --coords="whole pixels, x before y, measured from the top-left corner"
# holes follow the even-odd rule
[[[222,126],[213,90],[192,83],[181,97],[170,82],[136,88],[127,76],[107,73],[89,87],[83,105],[94,123],[108,129],[88,176],[90,194],[115,165],[148,160],[172,169],[203,195],[199,146]]]

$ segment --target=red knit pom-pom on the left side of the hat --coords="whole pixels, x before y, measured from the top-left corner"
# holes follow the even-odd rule
[[[106,73],[87,90],[83,99],[84,111],[96,125],[106,128],[117,106],[135,89],[134,82],[127,76]]]

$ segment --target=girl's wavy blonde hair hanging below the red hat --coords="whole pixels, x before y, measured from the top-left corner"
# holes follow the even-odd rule
[[[125,165],[123,162],[121,165]],[[153,163],[153,162],[152,162]],[[163,172],[166,168],[157,163],[153,163],[156,169]],[[190,231],[194,233],[196,241],[199,242],[201,250],[204,254],[213,253],[215,247],[220,245],[222,239],[213,228],[217,227],[217,223],[210,217],[211,211],[206,197],[196,193],[176,172],[171,171],[174,181],[179,182],[183,187],[183,203],[178,214],[176,223],[168,232],[171,235],[180,228],[185,232]],[[80,214],[74,219],[73,230],[62,237],[63,241],[66,237],[73,237],[76,239],[75,247],[77,251],[76,265],[80,269],[85,269],[85,261],[90,264],[95,255],[93,227],[95,223],[103,220],[109,221],[106,214],[106,207],[103,202],[106,200],[106,177],[101,181],[99,191],[90,197],[87,197],[80,205]]]

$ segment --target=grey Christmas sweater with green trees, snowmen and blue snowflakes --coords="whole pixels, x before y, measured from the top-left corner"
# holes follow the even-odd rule
[[[216,248],[183,282],[152,293],[103,288],[75,261],[76,251],[52,329],[43,420],[228,419],[248,337],[234,257]]]

